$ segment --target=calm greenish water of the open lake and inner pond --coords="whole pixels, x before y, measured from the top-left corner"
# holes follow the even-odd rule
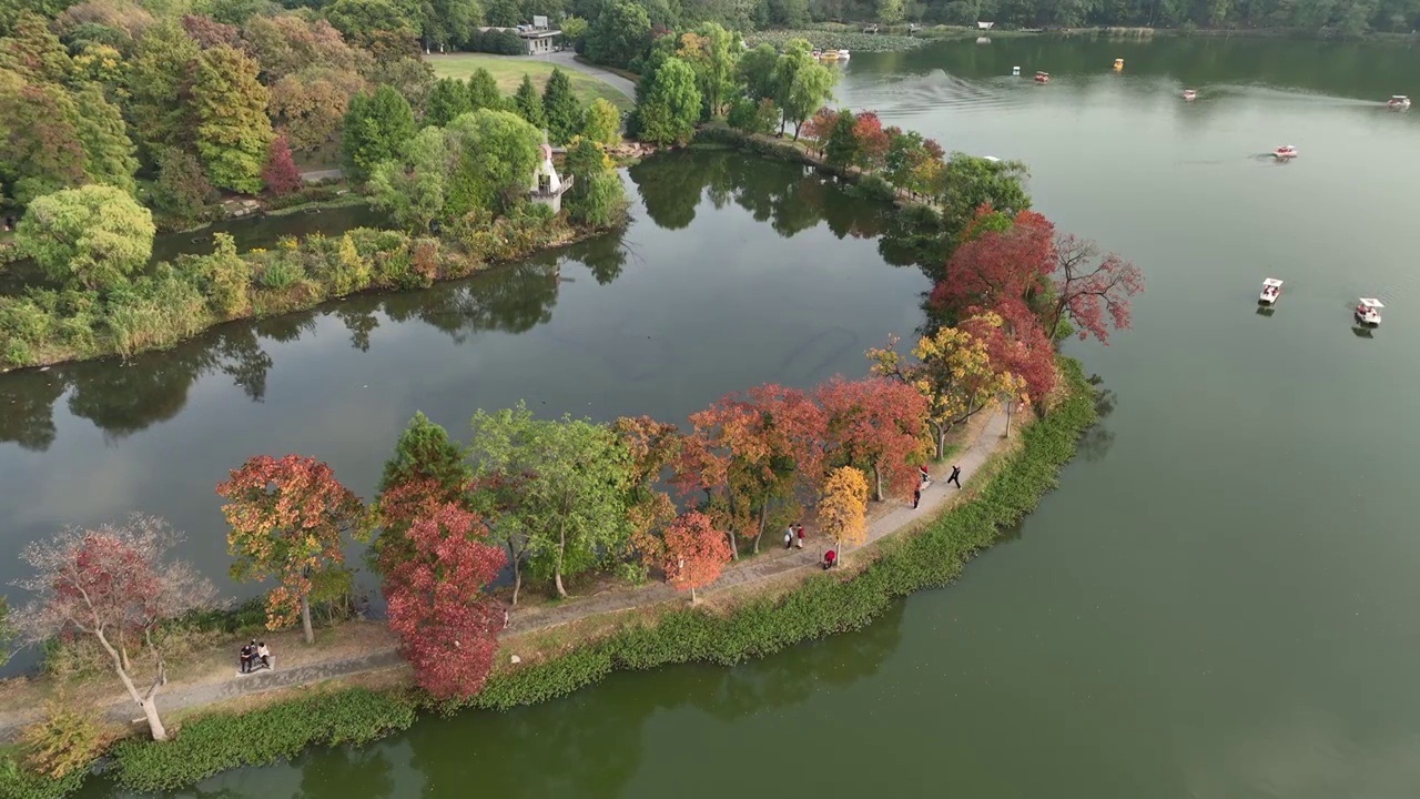
[[[1011,65],[1055,80],[1011,80]],[[1406,488],[1420,466],[1407,415],[1420,387],[1420,119],[1377,107],[1420,95],[1417,75],[1414,50],[1242,40],[855,57],[846,102],[949,149],[1028,161],[1041,210],[1149,276],[1132,333],[1072,348],[1113,397],[1061,490],[958,584],[861,634],[426,721],[365,751],[220,776],[202,795],[1420,793],[1420,542]],[[1184,85],[1197,102],[1179,100]],[[1258,158],[1279,144],[1301,158]],[[261,340],[274,363],[264,404],[209,374],[183,412],[178,401],[108,446],[61,402],[48,448],[0,449],[3,485],[17,485],[0,508],[7,543],[145,508],[204,525],[199,556],[217,563],[214,503],[197,489],[248,449],[307,449],[368,488],[415,407],[457,421],[525,395],[550,412],[676,418],[760,380],[852,371],[863,345],[917,323],[914,270],[824,225],[780,239],[797,200],[775,225],[733,200],[717,209],[714,185],[696,205],[682,191],[706,183],[696,161],[646,165],[663,195],[646,192],[650,219],[628,233],[622,274],[602,286],[564,267],[577,283],[521,334],[460,328],[457,344],[381,311],[359,353],[339,320],[317,316],[298,341]],[[1287,280],[1269,317],[1255,313],[1267,276]],[[476,294],[462,297],[487,309]],[[1350,328],[1360,294],[1387,306],[1373,337]],[[141,382],[155,401],[133,407],[169,397]]]

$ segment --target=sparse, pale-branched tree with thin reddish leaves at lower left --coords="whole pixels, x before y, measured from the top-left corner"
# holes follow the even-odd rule
[[[36,599],[16,616],[24,640],[43,644],[55,636],[92,636],[109,655],[124,690],[148,718],[153,738],[168,732],[158,715],[158,691],[168,684],[162,623],[210,607],[216,590],[192,566],[168,562],[180,537],[160,519],[133,516],[128,525],[71,527],[51,540],[34,542],[21,560],[34,577],[16,581]],[[133,680],[133,660],[145,655],[146,688]]]

